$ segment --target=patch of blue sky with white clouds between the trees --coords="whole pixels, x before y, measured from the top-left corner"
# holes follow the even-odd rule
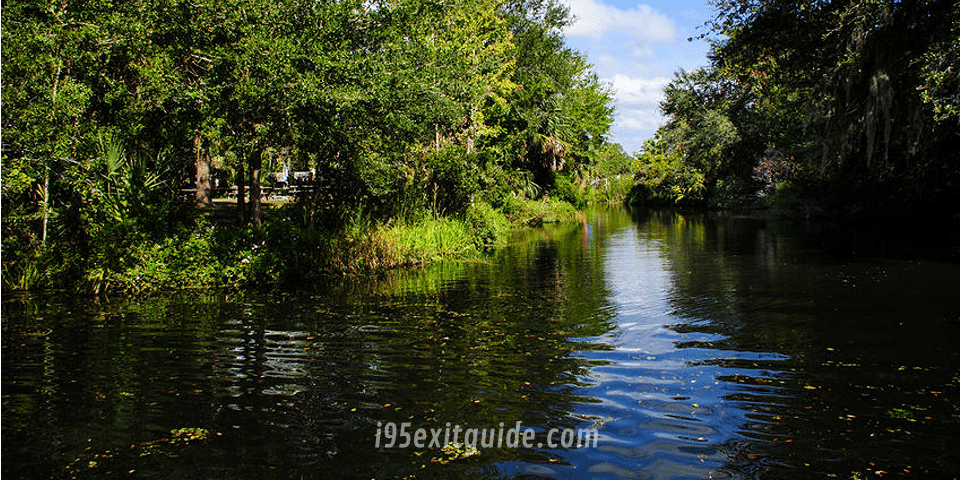
[[[705,0],[561,0],[576,21],[567,45],[587,55],[616,98],[610,139],[628,153],[663,123],[661,90],[679,68],[707,64],[708,45],[688,42],[703,33],[713,10]],[[700,27],[700,28],[698,28]]]

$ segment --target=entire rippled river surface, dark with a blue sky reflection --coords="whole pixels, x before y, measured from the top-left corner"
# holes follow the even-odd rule
[[[953,478],[960,264],[893,227],[601,211],[300,291],[4,297],[2,473]],[[600,439],[374,445],[517,421]]]

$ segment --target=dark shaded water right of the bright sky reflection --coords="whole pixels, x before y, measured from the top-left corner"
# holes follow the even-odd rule
[[[916,238],[832,226],[668,212],[638,223],[674,271],[677,347],[743,412],[740,438],[718,446],[724,470],[952,476],[960,268],[943,250],[918,257]]]

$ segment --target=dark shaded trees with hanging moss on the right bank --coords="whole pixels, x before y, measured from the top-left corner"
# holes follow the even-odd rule
[[[635,202],[960,213],[960,3],[713,3],[709,65],[665,88]]]

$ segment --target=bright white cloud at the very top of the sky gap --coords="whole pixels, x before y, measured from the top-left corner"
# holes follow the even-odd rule
[[[567,0],[576,18],[567,28],[570,36],[603,38],[608,32],[655,42],[670,42],[677,35],[673,22],[649,5],[621,10],[598,0]]]

